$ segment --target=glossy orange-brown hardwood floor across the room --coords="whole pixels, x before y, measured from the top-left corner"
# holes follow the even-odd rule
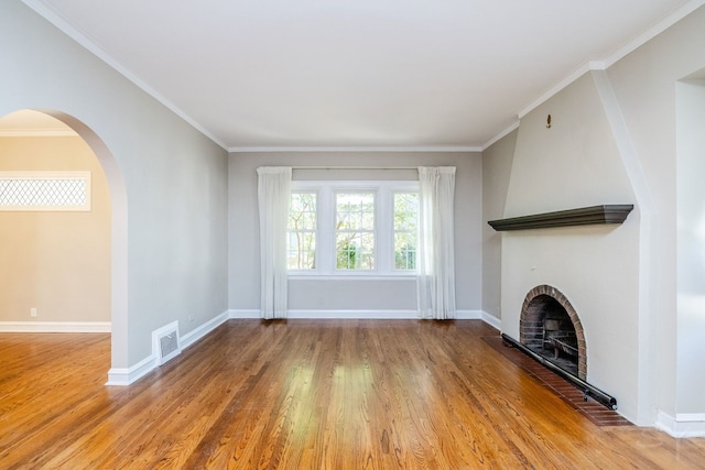
[[[0,334],[2,469],[685,469],[705,439],[597,427],[479,320],[230,320],[129,387],[107,335]]]

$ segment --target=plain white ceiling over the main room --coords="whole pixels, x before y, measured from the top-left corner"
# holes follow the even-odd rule
[[[485,147],[703,0],[24,0],[231,151]]]

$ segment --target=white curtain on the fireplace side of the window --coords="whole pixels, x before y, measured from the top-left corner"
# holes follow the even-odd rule
[[[422,318],[455,318],[455,167],[419,167],[416,295]]]

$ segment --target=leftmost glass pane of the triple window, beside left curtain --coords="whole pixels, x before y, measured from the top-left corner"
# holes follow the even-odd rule
[[[292,193],[286,238],[286,267],[316,267],[316,194]]]

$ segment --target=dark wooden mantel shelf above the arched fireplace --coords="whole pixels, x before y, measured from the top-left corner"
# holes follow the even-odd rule
[[[579,209],[490,220],[487,223],[497,231],[622,223],[633,208],[633,204],[606,204],[603,206],[581,207]]]

